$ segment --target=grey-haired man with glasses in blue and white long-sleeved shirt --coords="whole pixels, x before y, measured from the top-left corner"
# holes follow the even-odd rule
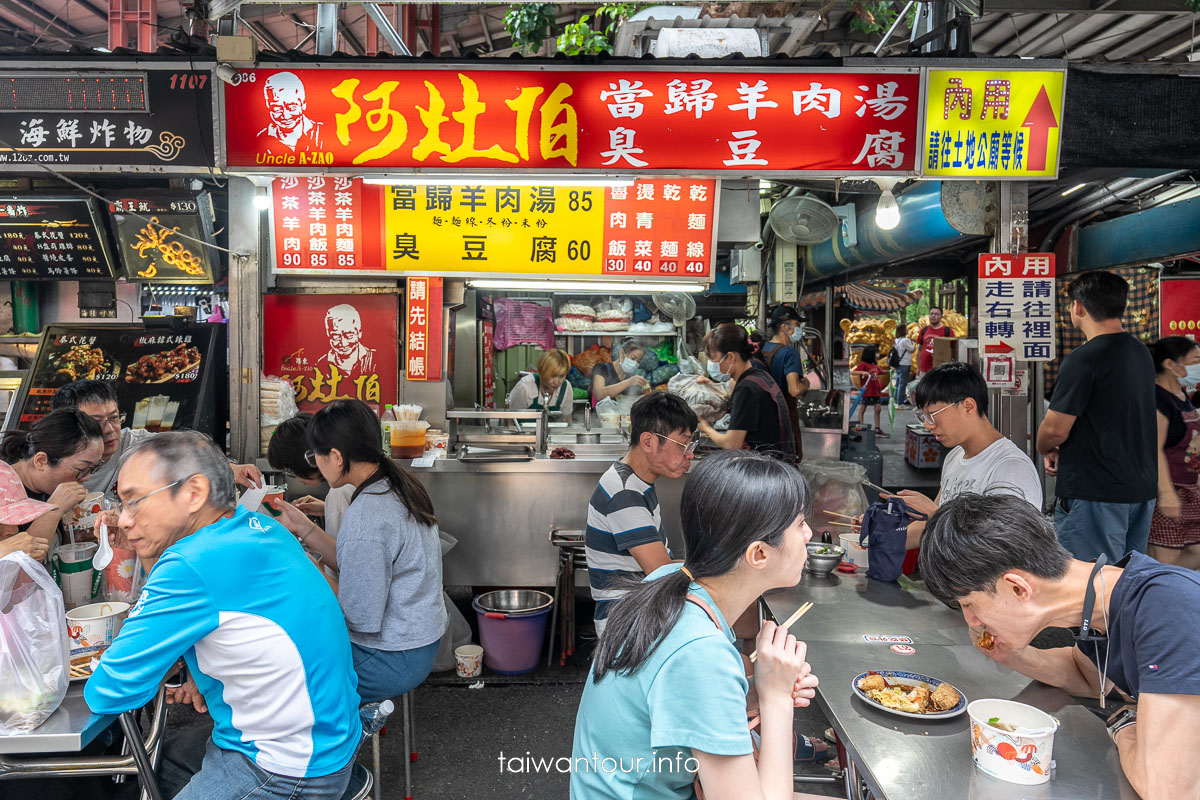
[[[236,509],[221,450],[194,432],[136,445],[120,469],[121,534],[155,561],[120,634],[88,681],[96,714],[172,688],[212,717],[204,764],[176,795],[337,800],[362,735],[341,607],[282,525]]]

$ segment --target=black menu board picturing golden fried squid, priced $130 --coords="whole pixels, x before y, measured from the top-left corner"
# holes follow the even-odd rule
[[[108,213],[127,279],[212,283],[212,249],[200,243],[212,241],[208,194],[121,194]]]

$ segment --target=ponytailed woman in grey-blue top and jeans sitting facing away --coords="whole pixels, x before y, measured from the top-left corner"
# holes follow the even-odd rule
[[[350,630],[364,703],[398,697],[433,669],[446,628],[442,545],[428,492],[384,455],[379,419],[337,401],[308,423],[305,453],[331,488],[354,486],[337,540],[295,506],[275,500],[280,522],[338,570],[337,600]]]

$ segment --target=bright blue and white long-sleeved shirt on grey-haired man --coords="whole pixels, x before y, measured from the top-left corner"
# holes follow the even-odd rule
[[[337,599],[295,536],[245,509],[168,547],[84,688],[96,714],[149,703],[182,656],[212,741],[259,768],[322,777],[362,738]]]

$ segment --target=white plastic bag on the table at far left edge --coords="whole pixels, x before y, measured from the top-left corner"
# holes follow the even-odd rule
[[[0,559],[0,735],[28,733],[54,714],[70,658],[62,590],[24,553]]]

